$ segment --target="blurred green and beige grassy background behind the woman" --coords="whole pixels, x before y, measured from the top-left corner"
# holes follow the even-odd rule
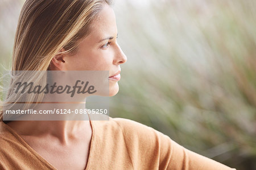
[[[0,2],[1,72],[23,0]],[[141,122],[189,150],[256,169],[256,1],[115,1],[126,53],[110,116]]]

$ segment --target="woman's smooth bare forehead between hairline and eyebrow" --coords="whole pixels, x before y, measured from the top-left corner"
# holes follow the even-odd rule
[[[91,29],[92,31],[89,36],[98,39],[117,35],[117,24],[115,22],[115,14],[112,7],[104,5],[103,9],[93,20]]]

